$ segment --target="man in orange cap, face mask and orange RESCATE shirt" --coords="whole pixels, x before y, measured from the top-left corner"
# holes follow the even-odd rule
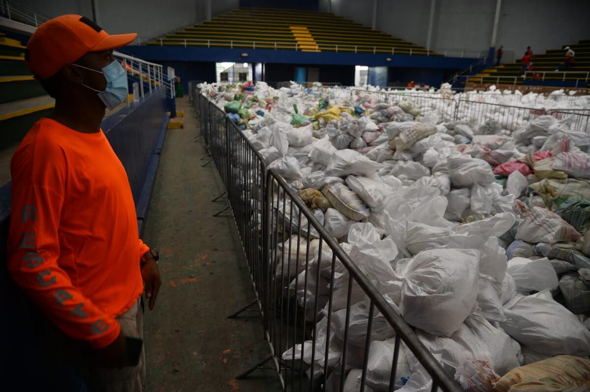
[[[113,49],[135,37],[80,15],[38,27],[25,63],[55,109],[11,160],[9,273],[77,348],[73,365],[91,391],[142,391],[141,296],[145,282],[153,309],[161,283],[158,252],[139,239],[129,179],[100,129],[128,92]]]

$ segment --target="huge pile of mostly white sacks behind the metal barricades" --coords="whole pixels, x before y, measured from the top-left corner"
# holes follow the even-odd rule
[[[223,107],[227,92],[202,87]],[[501,125],[453,122],[411,102],[382,104],[362,95],[332,94],[329,106],[317,109],[329,93],[319,86],[275,90],[258,83],[250,112],[264,116],[253,117],[244,134],[267,168],[301,191],[448,375],[467,385],[484,364],[501,376],[555,355],[588,357],[590,231],[572,210],[563,214],[572,224],[554,211],[577,202],[571,197],[582,199],[581,208],[590,200],[590,135],[571,130],[569,119],[542,116],[507,136]],[[309,118],[297,127],[291,125],[294,104]],[[351,114],[355,107],[362,116]],[[495,175],[503,164],[504,175]],[[297,233],[293,210],[283,218]],[[306,227],[301,224],[301,233]],[[582,227],[585,232],[578,231]],[[296,237],[278,245],[297,244]],[[327,325],[332,253],[324,245],[318,260],[317,231],[310,237],[307,270],[302,234],[290,270],[287,258],[278,260],[277,276],[288,276],[291,295],[300,306],[307,303],[307,321],[314,320],[319,293],[313,376],[323,371],[327,345],[330,387],[337,387],[349,275],[337,262]],[[306,273],[313,279],[305,288]],[[352,287],[347,391],[360,383],[369,313],[369,300],[356,283]],[[394,330],[375,313],[365,391],[388,390],[394,350]],[[285,361],[301,356],[311,364],[312,342],[283,353]],[[396,374],[404,391],[430,390],[430,377],[403,345]]]

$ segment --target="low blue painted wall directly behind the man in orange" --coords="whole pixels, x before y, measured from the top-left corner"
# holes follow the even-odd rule
[[[142,218],[138,224],[145,219],[145,205],[149,203],[151,192],[151,186],[146,186],[145,180],[153,178],[150,168],[153,171],[154,162],[157,167],[166,130],[165,119],[165,92],[158,89],[143,102],[120,110],[102,124],[104,133],[127,171],[137,205],[137,216]],[[3,263],[6,262],[10,200],[8,183],[0,188],[0,259]],[[5,358],[2,361],[4,377],[1,389],[85,391],[81,389],[81,380],[65,361],[65,348],[58,346],[60,340],[56,338],[57,332],[48,327],[45,317],[15,286],[6,268],[0,269],[0,298],[0,337]]]

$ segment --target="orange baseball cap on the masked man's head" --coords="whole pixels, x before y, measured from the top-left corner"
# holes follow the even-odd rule
[[[37,28],[27,44],[25,63],[39,79],[47,79],[86,53],[120,48],[135,37],[135,32],[109,35],[89,18],[61,15]]]

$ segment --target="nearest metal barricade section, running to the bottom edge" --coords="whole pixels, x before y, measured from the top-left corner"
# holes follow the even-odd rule
[[[370,280],[375,277],[359,269],[273,169],[266,191],[264,326],[272,352],[267,359],[283,390],[343,391],[346,382],[354,390],[393,391],[408,375],[397,372],[405,355],[430,375],[432,391],[462,390],[379,293]],[[391,368],[377,377],[368,362],[377,349],[372,342],[384,339],[391,347]]]

